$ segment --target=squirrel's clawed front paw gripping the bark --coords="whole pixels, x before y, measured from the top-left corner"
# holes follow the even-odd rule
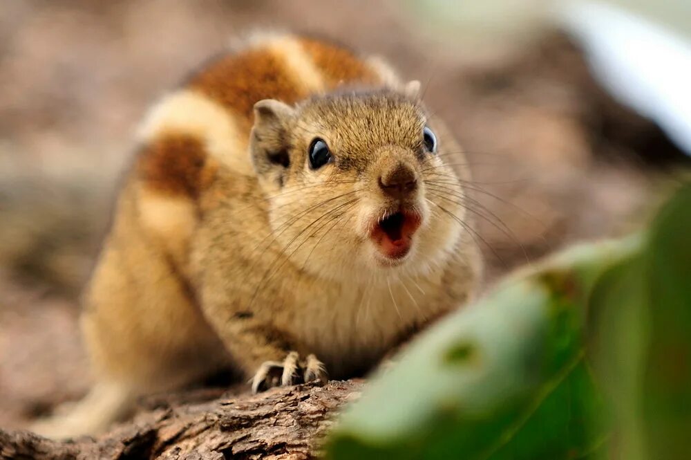
[[[309,355],[301,362],[297,351],[287,354],[283,362],[265,361],[252,378],[252,392],[263,392],[272,387],[297,385],[317,381],[322,385],[329,380],[323,362]]]

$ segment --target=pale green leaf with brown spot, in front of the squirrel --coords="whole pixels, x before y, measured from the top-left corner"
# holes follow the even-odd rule
[[[583,304],[637,244],[572,248],[430,329],[343,414],[328,457],[601,455],[607,417],[584,359]]]

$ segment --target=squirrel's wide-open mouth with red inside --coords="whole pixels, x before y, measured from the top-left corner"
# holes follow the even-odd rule
[[[401,259],[410,251],[413,235],[419,226],[417,212],[398,210],[379,219],[370,237],[382,255],[388,259]]]

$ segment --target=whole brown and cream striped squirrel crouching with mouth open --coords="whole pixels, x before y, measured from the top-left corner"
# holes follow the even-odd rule
[[[84,293],[95,383],[34,430],[104,432],[229,366],[254,392],[363,375],[467,302],[469,176],[419,86],[379,57],[265,34],[164,96]]]

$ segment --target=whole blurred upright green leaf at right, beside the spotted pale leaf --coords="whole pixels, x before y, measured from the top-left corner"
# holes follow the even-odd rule
[[[662,208],[640,255],[591,297],[598,378],[624,459],[691,457],[691,185]]]

